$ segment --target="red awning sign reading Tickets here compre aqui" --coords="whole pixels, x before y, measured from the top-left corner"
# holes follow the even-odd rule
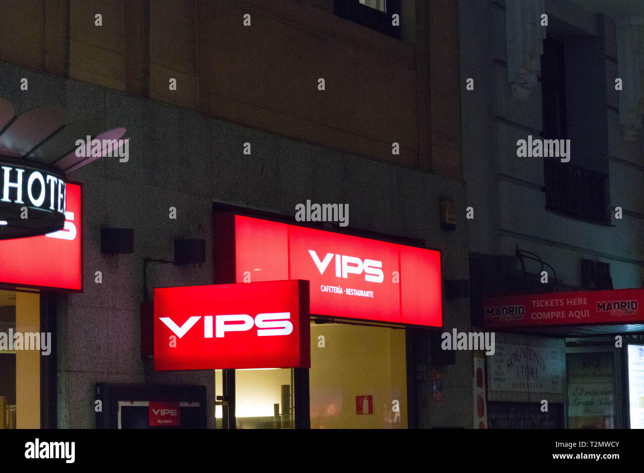
[[[486,328],[644,321],[644,289],[558,292],[484,297]]]

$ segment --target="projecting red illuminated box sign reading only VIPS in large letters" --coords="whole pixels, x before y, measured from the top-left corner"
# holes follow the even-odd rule
[[[308,281],[155,288],[155,369],[310,367]]]

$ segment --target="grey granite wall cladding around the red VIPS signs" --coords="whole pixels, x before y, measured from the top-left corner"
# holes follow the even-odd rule
[[[29,90],[20,91],[21,77]],[[294,216],[296,203],[348,203],[350,227],[424,239],[442,250],[446,279],[468,278],[468,235],[463,217],[452,232],[440,230],[439,199],[464,209],[462,181],[374,162],[298,142],[140,97],[61,79],[0,62],[0,97],[17,113],[64,107],[68,121],[99,116],[106,129],[125,127],[129,161],[101,158],[69,179],[83,184],[84,292],[59,297],[58,418],[60,428],[93,428],[96,382],[204,384],[209,427],[214,427],[214,373],[154,373],[140,358],[139,304],[143,259],[173,259],[176,237],[204,238],[206,263],[149,264],[154,286],[213,281],[212,203],[221,201]],[[82,137],[84,138],[84,137]],[[252,154],[243,154],[250,142]],[[176,207],[176,219],[169,219]],[[100,227],[135,229],[135,252],[100,253]],[[102,272],[102,284],[94,282]],[[468,303],[445,301],[445,326],[469,329]],[[471,359],[457,354],[444,381],[450,425],[471,425]],[[429,384],[419,398],[427,399]],[[449,395],[448,395],[449,394]],[[434,423],[432,423],[434,422]],[[422,427],[430,420],[421,409]]]

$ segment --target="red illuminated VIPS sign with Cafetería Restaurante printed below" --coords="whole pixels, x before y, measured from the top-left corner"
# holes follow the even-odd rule
[[[304,279],[316,315],[442,325],[437,251],[228,213],[215,227],[216,279]]]

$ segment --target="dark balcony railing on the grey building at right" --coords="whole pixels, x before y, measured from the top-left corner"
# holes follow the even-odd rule
[[[548,158],[544,159],[544,174],[546,209],[611,225],[607,174]]]

